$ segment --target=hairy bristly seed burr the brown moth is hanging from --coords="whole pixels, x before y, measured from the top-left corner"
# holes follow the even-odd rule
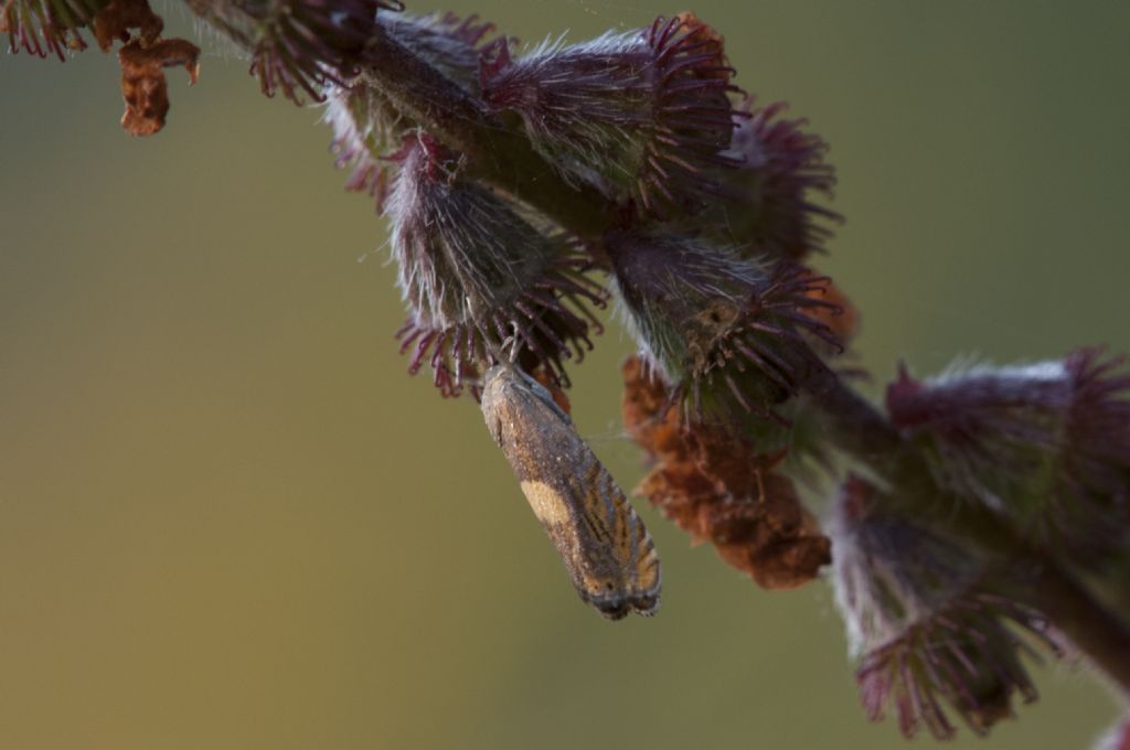
[[[527,372],[544,367],[567,384],[562,359],[592,348],[590,325],[600,324],[588,305],[607,298],[584,274],[588,256],[461,176],[429,136],[410,137],[398,158],[389,213],[410,308],[398,333],[401,351],[411,350],[409,370],[431,361],[436,385],[454,395],[505,348]]]

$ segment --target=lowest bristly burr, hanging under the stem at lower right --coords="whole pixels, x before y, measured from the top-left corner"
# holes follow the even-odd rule
[[[860,695],[872,721],[889,707],[912,736],[923,724],[938,739],[954,734],[942,704],[977,734],[1011,716],[1011,700],[1036,699],[1020,661],[1035,656],[1010,626],[1052,653],[1044,619],[992,593],[1005,560],[932,529],[884,512],[889,500],[851,477],[832,525],[836,603],[852,652],[862,655]]]

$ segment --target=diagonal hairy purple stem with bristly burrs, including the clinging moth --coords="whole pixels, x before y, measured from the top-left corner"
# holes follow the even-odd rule
[[[826,573],[868,716],[984,734],[1036,698],[1026,661],[1063,653],[1130,696],[1124,358],[904,367],[884,408],[862,399],[840,358],[857,313],[814,269],[840,219],[827,147],[736,87],[709,25],[523,51],[389,0],[186,1],[264,94],[324,105],[347,186],[390,221],[409,370],[483,398],[584,601],[659,603],[651,538],[563,392],[615,299],[640,349],[623,372],[650,462],[636,494],[763,587]],[[162,29],[146,0],[0,8],[12,52],[120,44],[136,136],[165,124],[164,68],[195,80],[199,50]],[[826,529],[798,491],[814,477],[837,488]]]

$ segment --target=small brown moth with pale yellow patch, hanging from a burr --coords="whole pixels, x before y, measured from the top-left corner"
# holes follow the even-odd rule
[[[659,607],[659,557],[624,492],[540,383],[495,365],[483,416],[581,599],[618,620]]]

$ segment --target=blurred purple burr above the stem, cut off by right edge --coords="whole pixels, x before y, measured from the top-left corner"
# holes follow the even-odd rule
[[[1130,375],[1081,349],[1061,361],[975,367],[918,382],[887,410],[935,481],[1053,553],[1101,568],[1130,540]]]

